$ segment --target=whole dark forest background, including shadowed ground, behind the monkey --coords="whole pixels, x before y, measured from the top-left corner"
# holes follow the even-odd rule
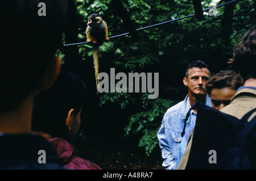
[[[230,1],[230,0],[229,0]],[[109,37],[129,32],[112,1],[72,0],[63,44],[86,41],[87,17],[98,13],[108,24]],[[142,28],[194,14],[187,0],[122,0],[134,27]],[[203,9],[228,1],[202,1]],[[102,169],[162,169],[156,133],[164,113],[185,98],[183,85],[189,62],[203,60],[211,73],[229,69],[226,62],[242,35],[256,23],[256,3],[241,0],[219,7],[215,16],[194,17],[110,39],[100,47],[99,72],[115,74],[159,73],[159,96],[148,93],[96,94],[93,49],[89,44],[61,48],[63,66],[79,74],[87,86],[81,128],[75,146],[78,154]],[[118,82],[118,81],[116,81]]]

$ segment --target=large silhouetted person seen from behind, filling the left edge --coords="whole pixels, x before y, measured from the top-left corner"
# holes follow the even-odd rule
[[[44,1],[46,16],[40,2],[0,1],[0,169],[64,169],[53,146],[31,134],[31,116],[36,94],[59,74],[68,1]]]

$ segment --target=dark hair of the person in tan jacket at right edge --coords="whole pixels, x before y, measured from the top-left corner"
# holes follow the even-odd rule
[[[256,29],[245,33],[234,49],[232,67],[244,81],[256,78]]]

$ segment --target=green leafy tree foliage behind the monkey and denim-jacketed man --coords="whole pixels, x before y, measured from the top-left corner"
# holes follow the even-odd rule
[[[87,16],[93,12],[102,15],[108,23],[109,36],[126,33],[127,28],[116,14],[111,1],[76,0],[79,19],[80,41],[85,41]],[[194,14],[192,1],[150,1],[123,0],[135,28],[142,28],[166,20]],[[220,1],[218,3],[223,3]],[[203,1],[203,9],[212,7],[212,1]],[[212,73],[226,69],[226,61],[232,58],[234,46],[242,35],[254,24],[255,2],[250,0],[236,3],[230,35],[225,32],[222,20],[225,7],[217,9],[217,16],[205,15],[197,21],[195,17],[168,23],[163,26],[139,31],[139,40],[130,35],[110,40],[100,47],[100,72],[115,68],[118,72],[159,73],[159,98],[147,99],[148,94],[109,92],[100,94],[100,106],[108,110],[109,115],[118,114],[108,103],[127,110],[125,136],[131,133],[140,136],[139,146],[149,155],[158,144],[156,133],[162,117],[175,102],[184,99],[187,89],[182,85],[184,70],[193,60],[204,60],[212,66]],[[79,55],[86,64],[86,70],[92,68],[92,47],[80,45]],[[84,71],[86,71],[84,70]],[[90,72],[90,71],[89,71]],[[89,76],[94,86],[94,74]]]

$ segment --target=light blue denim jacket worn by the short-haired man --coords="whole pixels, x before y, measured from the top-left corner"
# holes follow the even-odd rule
[[[212,107],[208,95],[205,104]],[[185,151],[185,148],[180,148],[180,143],[182,141],[182,145],[185,147],[187,140],[184,136],[181,137],[181,133],[183,132],[185,117],[190,107],[187,95],[182,102],[169,108],[163,117],[162,125],[158,131],[158,140],[164,159],[162,164],[164,169],[177,169],[180,158]],[[195,126],[195,121],[196,114],[191,111],[186,128]]]

